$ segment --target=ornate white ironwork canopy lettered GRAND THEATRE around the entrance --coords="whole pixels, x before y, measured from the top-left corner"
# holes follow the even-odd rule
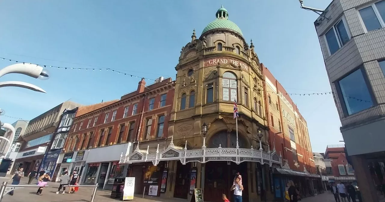
[[[209,161],[232,161],[236,164],[242,162],[259,162],[261,164],[278,164],[282,166],[282,158],[276,154],[275,148],[273,152],[264,152],[263,150],[243,149],[243,148],[222,148],[219,145],[218,148],[206,148],[202,149],[187,149],[187,141],[184,148],[174,146],[171,140],[170,145],[166,150],[159,152],[159,144],[156,153],[149,154],[149,148],[147,150],[140,150],[136,147],[135,151],[131,155],[124,156],[121,154],[121,164],[132,164],[139,162],[152,162],[157,165],[160,161],[168,160],[180,160],[183,165],[187,162],[201,162],[206,163]]]

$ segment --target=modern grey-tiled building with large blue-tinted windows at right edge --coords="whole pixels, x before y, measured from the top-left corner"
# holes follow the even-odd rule
[[[341,133],[365,200],[383,183],[385,0],[333,0],[314,22]],[[382,167],[372,179],[367,165]],[[378,169],[377,169],[378,170]],[[375,183],[373,183],[375,182]]]

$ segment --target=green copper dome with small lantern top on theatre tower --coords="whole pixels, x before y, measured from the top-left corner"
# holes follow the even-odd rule
[[[226,8],[223,8],[223,5],[221,8],[218,9],[216,12],[216,19],[213,22],[210,22],[204,29],[202,34],[209,30],[214,30],[214,29],[229,29],[233,30],[234,32],[238,32],[240,35],[242,34],[241,29],[236,25],[234,22],[228,19],[229,14],[226,10]]]

